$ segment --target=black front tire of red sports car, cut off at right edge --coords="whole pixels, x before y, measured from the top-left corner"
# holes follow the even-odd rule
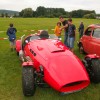
[[[100,82],[100,59],[92,59],[91,67],[92,67],[91,81],[93,81],[94,83],[99,83]]]

